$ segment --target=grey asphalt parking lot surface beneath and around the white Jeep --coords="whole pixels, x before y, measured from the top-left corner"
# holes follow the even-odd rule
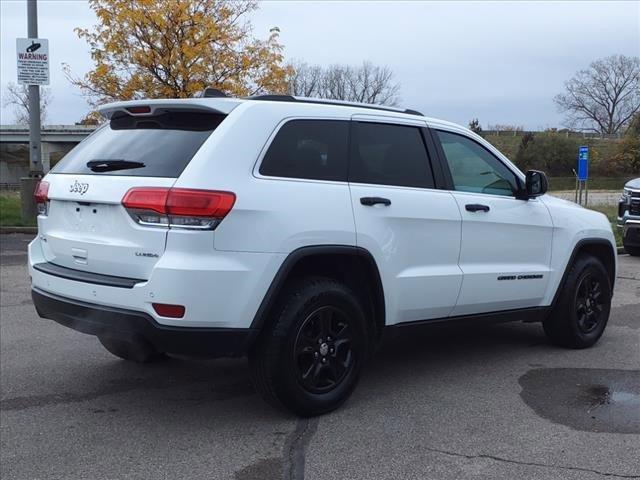
[[[128,364],[38,318],[27,235],[2,235],[3,479],[640,478],[640,259],[587,350],[535,324],[388,341],[342,409],[268,407],[244,360]]]

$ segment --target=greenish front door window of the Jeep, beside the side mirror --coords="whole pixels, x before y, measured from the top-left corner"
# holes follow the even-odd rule
[[[513,196],[516,177],[500,160],[464,135],[437,131],[456,190]]]

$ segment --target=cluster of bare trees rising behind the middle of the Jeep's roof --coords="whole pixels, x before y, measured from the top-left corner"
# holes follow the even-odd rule
[[[292,67],[291,95],[379,105],[397,105],[399,101],[400,84],[394,82],[393,71],[387,66],[364,62],[359,67],[321,67],[295,62]]]

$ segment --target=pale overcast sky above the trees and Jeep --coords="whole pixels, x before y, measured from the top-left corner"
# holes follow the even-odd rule
[[[75,27],[96,18],[84,0],[39,0],[39,36],[49,39],[48,124],[73,124],[88,111],[62,64],[91,69]],[[263,1],[253,33],[280,28],[288,60],[389,66],[401,105],[466,125],[559,127],[553,103],[575,72],[613,54],[640,56],[640,1]],[[0,84],[16,81],[15,39],[26,37],[26,0],[0,0]],[[12,123],[2,107],[0,123]]]

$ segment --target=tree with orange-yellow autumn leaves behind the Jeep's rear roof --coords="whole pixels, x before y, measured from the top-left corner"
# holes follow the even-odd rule
[[[77,28],[95,67],[67,78],[99,105],[115,100],[191,97],[205,87],[230,95],[284,93],[277,28],[252,36],[253,0],[90,0],[99,24]]]

